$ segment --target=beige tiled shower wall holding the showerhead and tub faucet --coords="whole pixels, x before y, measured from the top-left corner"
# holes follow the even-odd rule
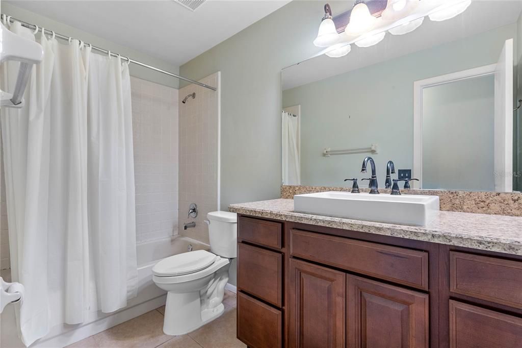
[[[219,210],[219,83],[220,73],[200,80],[218,91],[188,85],[179,91],[180,106],[180,233],[208,243],[207,213]],[[181,101],[196,92],[196,98]],[[187,218],[188,206],[196,203],[199,214]],[[183,230],[195,221],[196,227]]]

